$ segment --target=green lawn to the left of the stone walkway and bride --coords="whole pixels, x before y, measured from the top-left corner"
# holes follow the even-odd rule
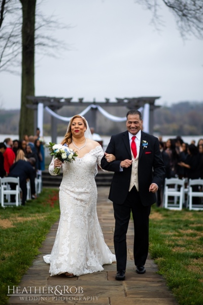
[[[0,301],[18,285],[51,226],[59,218],[58,190],[44,189],[25,206],[0,208]]]

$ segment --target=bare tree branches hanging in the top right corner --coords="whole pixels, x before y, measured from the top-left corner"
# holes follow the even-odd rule
[[[163,23],[159,13],[164,4],[175,16],[176,24],[183,39],[194,35],[203,38],[203,1],[202,0],[135,0],[152,12],[155,26]]]

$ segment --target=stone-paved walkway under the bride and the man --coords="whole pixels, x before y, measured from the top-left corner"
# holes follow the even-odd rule
[[[112,203],[107,199],[108,194],[109,187],[98,188],[97,213],[105,241],[114,253],[114,216]],[[133,263],[132,222],[129,223],[127,233],[128,257],[125,281],[115,280],[116,263],[105,265],[104,271],[80,277],[67,278],[64,275],[50,277],[49,265],[44,263],[43,255],[51,252],[57,227],[58,222],[52,226],[50,233],[47,235],[47,239],[43,242],[43,246],[40,249],[42,254],[37,256],[21,280],[18,292],[22,292],[25,287],[27,294],[24,290],[21,298],[19,296],[20,294],[17,296],[12,295],[9,300],[10,305],[56,305],[67,303],[72,305],[78,303],[85,305],[177,305],[174,296],[166,287],[163,278],[156,274],[158,269],[153,260],[148,257],[145,265],[147,271],[144,275],[138,275],[136,273],[136,268]],[[65,287],[67,290],[65,292],[63,292],[64,286],[69,287]],[[57,295],[50,295],[52,291],[50,290],[50,293],[48,293],[48,287],[53,288],[52,291],[55,291]],[[37,289],[36,294],[38,296],[32,293],[35,289]],[[62,290],[61,295],[57,292],[60,290]],[[30,295],[30,291],[32,296]]]

